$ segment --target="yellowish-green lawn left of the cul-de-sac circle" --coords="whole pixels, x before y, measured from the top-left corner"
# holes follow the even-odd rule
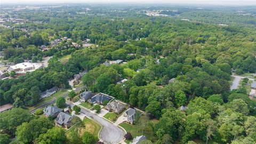
[[[94,137],[94,142],[93,143],[96,143],[99,140],[98,133],[101,129],[101,125],[94,122],[92,119],[89,119],[89,118],[85,118],[83,120],[83,122],[84,122],[85,127],[82,128],[82,129],[79,129],[79,137],[82,138],[85,131],[90,132]],[[70,132],[73,132],[73,130],[75,128],[76,128],[76,126],[73,126],[69,129],[69,131],[67,132],[68,137],[69,137]]]

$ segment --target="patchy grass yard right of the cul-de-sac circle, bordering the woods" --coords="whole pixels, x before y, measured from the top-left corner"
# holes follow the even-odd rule
[[[153,123],[155,124],[157,122],[157,120],[150,120],[149,123]],[[127,123],[121,123],[119,124],[119,126],[123,127],[125,129],[126,132],[130,132],[132,134],[132,137],[135,138],[136,136],[140,136],[141,135],[141,130],[138,130],[138,125],[134,124],[134,125],[131,125],[131,124],[127,124]],[[151,129],[151,127],[147,126],[147,129],[145,132],[143,132],[143,135],[145,135],[149,140],[153,141],[153,142],[156,142],[157,141],[157,138],[156,136],[154,135],[154,132],[153,130]],[[128,142],[129,140],[127,140]]]

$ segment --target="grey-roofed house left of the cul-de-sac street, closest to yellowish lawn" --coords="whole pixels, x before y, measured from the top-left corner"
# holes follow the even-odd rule
[[[57,126],[65,127],[68,129],[71,126],[72,117],[66,113],[60,112],[57,118],[54,119],[54,123]]]

